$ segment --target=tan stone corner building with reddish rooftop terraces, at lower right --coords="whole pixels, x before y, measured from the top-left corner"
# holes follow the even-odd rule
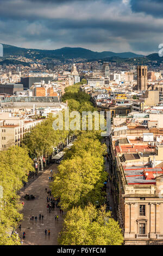
[[[121,144],[121,141],[116,143]],[[112,150],[115,144],[112,144]],[[137,147],[137,151],[144,149]],[[163,145],[158,149],[156,156],[162,161]],[[118,202],[118,221],[126,245],[163,245],[163,168],[154,167],[153,156],[152,151],[136,153],[135,150],[135,153],[120,152],[113,159],[111,178],[114,180],[115,202]]]

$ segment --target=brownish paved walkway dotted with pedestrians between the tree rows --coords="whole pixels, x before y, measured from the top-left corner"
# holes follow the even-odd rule
[[[58,234],[62,228],[63,215],[60,215],[60,211],[55,208],[55,210],[49,212],[47,211],[47,196],[45,188],[49,189],[49,179],[50,170],[57,172],[57,164],[52,164],[45,172],[42,173],[33,182],[30,182],[27,187],[23,188],[20,192],[21,202],[24,202],[24,207],[22,210],[23,221],[21,223],[21,231],[17,230],[22,239],[23,245],[58,245],[57,238]],[[24,199],[24,195],[33,194],[35,196],[34,200]],[[43,215],[43,221],[39,221],[39,214]],[[54,216],[59,215],[59,220],[55,221]],[[37,216],[37,221],[30,221],[30,215]],[[45,235],[45,229],[50,229],[50,236]],[[23,231],[26,232],[26,238],[23,239]]]

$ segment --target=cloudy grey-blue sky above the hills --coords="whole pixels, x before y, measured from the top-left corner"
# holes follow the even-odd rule
[[[163,0],[0,0],[0,42],[25,48],[158,52]]]

